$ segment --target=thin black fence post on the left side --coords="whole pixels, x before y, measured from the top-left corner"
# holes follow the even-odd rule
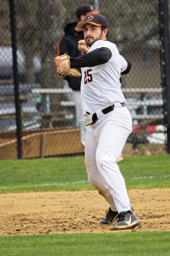
[[[13,74],[14,74],[15,108],[16,108],[16,124],[17,124],[17,149],[18,149],[18,159],[22,159],[21,114],[20,114],[20,100],[19,100],[19,78],[18,78],[18,67],[17,67],[14,0],[10,0],[10,19],[11,19],[11,37],[12,37],[12,49],[13,49]]]

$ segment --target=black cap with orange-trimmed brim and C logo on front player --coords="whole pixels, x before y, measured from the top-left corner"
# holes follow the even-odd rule
[[[104,26],[105,28],[108,28],[107,19],[103,15],[98,13],[92,13],[87,15],[83,22],[79,23],[77,26],[78,28],[84,28],[84,24],[86,23],[94,24],[96,26]]]

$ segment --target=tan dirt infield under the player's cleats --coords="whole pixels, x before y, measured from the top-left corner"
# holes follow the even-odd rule
[[[125,230],[170,230],[170,188],[128,190],[140,227]],[[100,233],[108,204],[97,191],[0,194],[0,235]]]

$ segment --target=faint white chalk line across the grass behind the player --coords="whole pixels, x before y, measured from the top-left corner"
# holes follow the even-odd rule
[[[125,180],[146,180],[146,179],[166,179],[170,177],[170,175],[157,175],[157,176],[143,176],[143,177],[133,177],[133,178],[124,178]],[[13,188],[19,188],[19,187],[40,187],[40,186],[62,186],[62,185],[71,185],[71,184],[84,184],[88,183],[88,181],[74,181],[74,182],[66,182],[66,183],[42,183],[42,184],[35,184],[35,185],[18,185],[18,186],[13,186]],[[5,187],[2,186],[0,188],[7,189],[11,187]]]

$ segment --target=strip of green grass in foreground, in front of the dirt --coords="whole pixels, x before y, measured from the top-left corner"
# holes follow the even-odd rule
[[[0,255],[168,256],[170,232],[48,234],[0,238]]]

